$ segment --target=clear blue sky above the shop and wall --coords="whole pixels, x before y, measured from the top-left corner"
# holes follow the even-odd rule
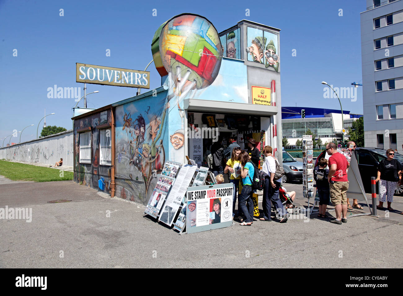
[[[245,16],[246,9],[250,16]],[[339,9],[343,16],[339,16]],[[361,81],[359,13],[364,10],[365,0],[0,0],[0,138],[35,124],[24,130],[21,141],[34,139],[45,108],[47,114],[56,113],[46,118],[48,125],[71,129],[74,98],[48,98],[47,89],[54,85],[81,87],[83,96],[83,84],[75,82],[76,62],[144,70],[152,60],[151,41],[156,29],[183,12],[206,17],[218,32],[242,19],[281,29],[282,105],[339,109],[337,99],[324,99],[320,82],[350,87],[353,81]],[[15,49],[17,56],[13,56]],[[106,56],[107,49],[110,56]],[[294,49],[296,56],[292,56]],[[147,70],[151,72],[151,89],[160,86],[154,64]],[[100,92],[87,96],[88,108],[132,97],[137,89],[87,84],[87,93],[96,90]],[[357,101],[341,102],[343,110],[362,114],[361,87],[357,89]],[[82,101],[79,106],[83,106]],[[39,133],[42,125],[43,121]],[[11,141],[18,142],[19,137]]]

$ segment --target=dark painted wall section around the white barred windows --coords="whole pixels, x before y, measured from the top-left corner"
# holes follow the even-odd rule
[[[105,180],[106,193],[110,190],[110,166],[100,165],[100,124],[111,123],[110,110],[74,120],[74,181],[98,189],[98,180]],[[91,126],[91,164],[80,163],[80,133],[77,130]]]

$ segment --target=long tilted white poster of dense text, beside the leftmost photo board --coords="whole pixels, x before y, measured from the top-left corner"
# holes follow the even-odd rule
[[[172,225],[172,221],[181,206],[182,199],[186,194],[187,187],[189,187],[190,181],[195,174],[197,166],[190,164],[183,164],[178,176],[176,177],[175,183],[166,198],[166,202],[162,212],[160,214],[160,221]]]

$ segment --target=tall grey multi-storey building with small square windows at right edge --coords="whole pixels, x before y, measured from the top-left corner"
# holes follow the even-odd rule
[[[367,0],[361,12],[366,147],[403,144],[403,1]]]

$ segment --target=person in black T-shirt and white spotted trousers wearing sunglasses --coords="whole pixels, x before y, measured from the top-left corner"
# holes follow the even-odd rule
[[[399,161],[394,159],[395,152],[393,149],[386,150],[388,158],[382,159],[378,166],[378,177],[375,182],[379,182],[379,205],[376,207],[379,210],[384,209],[383,203],[388,202],[388,211],[393,211],[391,203],[393,202],[393,194],[395,193],[396,185],[401,184],[402,166]]]

